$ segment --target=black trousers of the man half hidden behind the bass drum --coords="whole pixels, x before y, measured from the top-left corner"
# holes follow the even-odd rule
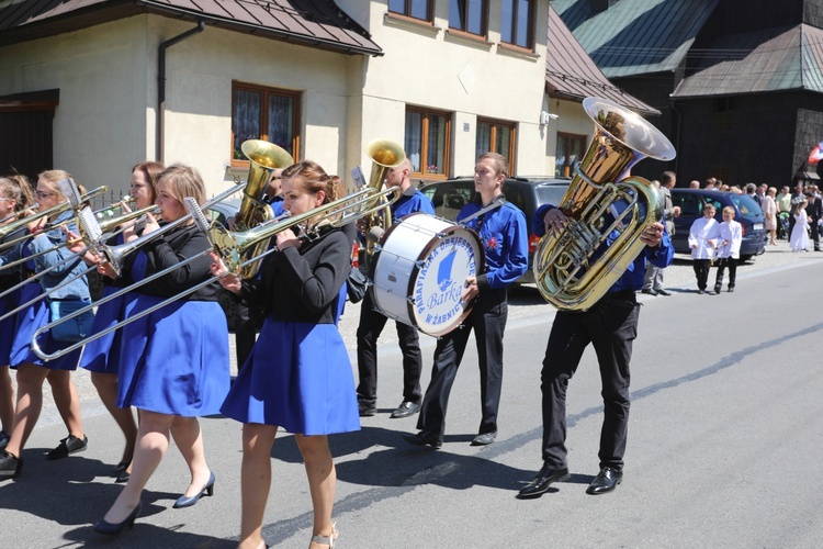
[[[374,406],[377,403],[377,338],[386,325],[386,318],[374,309],[371,292],[367,292],[360,307],[358,326],[358,402]],[[420,373],[422,355],[417,328],[395,322],[397,339],[403,351],[403,401],[420,402]]]

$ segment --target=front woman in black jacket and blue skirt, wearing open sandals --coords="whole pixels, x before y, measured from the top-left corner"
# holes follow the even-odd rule
[[[283,205],[292,215],[342,195],[311,160],[286,168],[282,184]],[[306,468],[314,507],[309,547],[334,545],[337,477],[327,435],[360,428],[351,363],[335,324],[337,300],[351,270],[351,242],[343,231],[322,222],[316,238],[301,235],[298,227],[277,234],[278,251],[264,259],[258,279],[225,274],[216,257],[212,266],[214,274],[225,274],[224,288],[267,310],[260,337],[222,407],[244,424],[241,548],[266,546],[262,519],[271,485],[271,448],[280,427],[294,434]]]

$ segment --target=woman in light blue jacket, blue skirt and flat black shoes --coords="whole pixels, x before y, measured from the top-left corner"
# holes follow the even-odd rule
[[[71,176],[63,170],[48,170],[40,175],[37,202],[42,210],[66,202],[66,197],[57,183],[69,178]],[[0,257],[0,266],[2,266],[22,257],[45,253],[32,258],[35,271],[42,271],[61,264],[41,277],[38,283],[30,283],[23,287],[20,296],[21,303],[31,301],[40,293],[48,292],[64,281],[76,278],[86,271],[86,266],[79,257],[67,261],[74,255],[71,250],[67,247],[58,248],[67,238],[67,232],[59,225],[67,224],[68,227],[74,227],[74,232],[77,232],[77,227],[71,222],[72,217],[74,212],[70,209],[55,219],[37,217],[27,224],[27,229],[33,235],[32,239],[22,242],[10,253]],[[46,223],[49,223],[48,227],[50,228],[46,227]],[[77,278],[71,283],[53,291],[48,299],[37,301],[16,315],[10,361],[12,368],[18,370],[18,402],[9,444],[5,451],[0,455],[0,479],[15,477],[20,473],[23,464],[21,452],[43,408],[43,382],[46,379],[52,385],[55,404],[69,433],[54,450],[48,452],[47,458],[52,460],[61,459],[70,453],[84,450],[88,445],[80,416],[80,400],[71,382],[71,371],[77,369],[80,349],[48,362],[43,361],[32,351],[33,334],[49,323],[49,301],[59,300],[90,302],[91,296],[87,278]],[[66,341],[54,339],[50,333],[43,334],[40,340],[40,347],[46,352],[55,352],[67,345]]]

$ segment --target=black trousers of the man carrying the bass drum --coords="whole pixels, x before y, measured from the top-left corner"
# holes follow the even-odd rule
[[[503,333],[508,317],[506,290],[481,293],[463,324],[438,339],[431,381],[422,399],[417,428],[443,434],[449,393],[463,360],[469,336],[474,329],[481,376],[483,416],[478,433],[497,430],[497,411],[503,389]]]

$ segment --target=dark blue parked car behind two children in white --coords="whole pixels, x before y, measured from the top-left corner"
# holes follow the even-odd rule
[[[712,191],[707,189],[672,189],[672,203],[680,206],[680,215],[675,217],[675,235],[672,242],[675,251],[689,254],[689,229],[698,217],[703,215],[703,205],[714,204],[714,219],[723,222],[723,208],[734,208],[734,221],[743,226],[743,243],[740,248],[742,261],[752,259],[766,250],[767,233],[764,229],[766,216],[763,210],[747,194]]]

